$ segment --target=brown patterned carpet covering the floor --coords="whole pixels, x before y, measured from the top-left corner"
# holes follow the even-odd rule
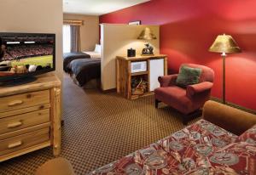
[[[183,128],[180,114],[154,97],[127,100],[116,93],[79,88],[64,76],[61,156],[86,174]],[[195,122],[190,121],[189,123]],[[51,148],[0,163],[1,175],[33,174],[52,159]]]

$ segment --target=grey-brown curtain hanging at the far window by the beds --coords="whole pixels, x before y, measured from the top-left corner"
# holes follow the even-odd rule
[[[80,26],[79,25],[70,25],[71,33],[71,52],[80,51]]]

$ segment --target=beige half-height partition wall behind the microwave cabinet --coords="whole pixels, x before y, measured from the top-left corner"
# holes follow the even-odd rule
[[[155,40],[137,40],[137,37],[145,27],[149,27]],[[116,88],[116,56],[126,56],[128,48],[135,48],[137,54],[141,54],[144,44],[150,42],[154,47],[154,54],[160,53],[159,25],[101,25],[102,43],[102,90]]]

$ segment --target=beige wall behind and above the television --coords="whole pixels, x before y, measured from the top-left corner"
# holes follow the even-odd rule
[[[56,72],[62,80],[62,0],[1,0],[0,31],[56,34]]]

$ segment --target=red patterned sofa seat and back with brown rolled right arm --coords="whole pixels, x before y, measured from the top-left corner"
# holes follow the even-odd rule
[[[208,101],[202,120],[90,174],[255,175],[255,124],[252,114]]]

